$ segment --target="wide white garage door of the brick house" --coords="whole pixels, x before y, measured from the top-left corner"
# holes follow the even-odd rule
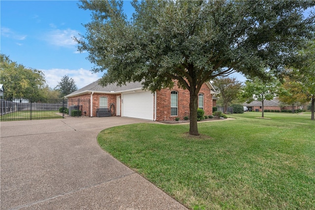
[[[122,116],[153,120],[154,97],[150,91],[122,95]]]

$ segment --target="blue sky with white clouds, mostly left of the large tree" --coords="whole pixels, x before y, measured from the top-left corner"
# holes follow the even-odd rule
[[[72,37],[84,35],[82,24],[91,21],[90,11],[79,9],[76,0],[0,0],[0,51],[27,68],[41,70],[51,88],[69,75],[82,88],[102,76],[93,73]],[[131,17],[130,1],[124,11]],[[240,81],[245,77],[232,74]]]

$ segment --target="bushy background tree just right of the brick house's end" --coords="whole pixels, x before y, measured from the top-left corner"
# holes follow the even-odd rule
[[[220,93],[217,95],[222,100],[223,112],[226,114],[227,107],[237,99],[237,95],[241,90],[242,82],[232,77],[215,78],[213,85]]]

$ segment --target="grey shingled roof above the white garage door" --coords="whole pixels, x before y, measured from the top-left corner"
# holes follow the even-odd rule
[[[141,90],[142,85],[141,82],[130,82],[126,83],[126,85],[119,86],[117,83],[109,84],[107,86],[101,86],[98,84],[98,80],[77,90],[74,91],[73,93],[70,93],[69,95],[65,96],[66,98],[68,97],[74,97],[74,96],[79,96],[87,93],[122,93],[126,91],[133,91],[133,90]]]

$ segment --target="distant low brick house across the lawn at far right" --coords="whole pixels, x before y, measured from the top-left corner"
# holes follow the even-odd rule
[[[259,101],[252,101],[251,103],[244,103],[243,106],[247,107],[247,110],[249,111],[261,111],[262,110],[262,104]],[[244,108],[245,108],[244,107]],[[293,109],[299,109],[300,106],[284,106],[280,103],[278,98],[274,98],[273,100],[265,100],[264,101],[264,110],[292,110]]]

